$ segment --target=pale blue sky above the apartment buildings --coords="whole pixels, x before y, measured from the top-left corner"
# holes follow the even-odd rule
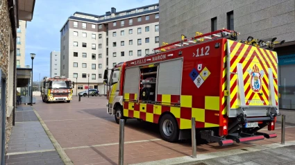
[[[158,0],[36,0],[32,21],[26,24],[26,65],[33,60],[33,81],[50,76],[50,53],[60,51],[60,29],[74,12],[105,15],[114,7],[117,12],[159,3]]]

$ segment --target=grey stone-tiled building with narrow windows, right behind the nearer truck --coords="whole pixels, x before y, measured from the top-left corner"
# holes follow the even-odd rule
[[[221,28],[241,33],[238,40],[246,40],[248,36],[285,40],[285,44],[275,49],[280,73],[279,107],[295,110],[295,0],[160,0],[159,4],[160,43]]]

